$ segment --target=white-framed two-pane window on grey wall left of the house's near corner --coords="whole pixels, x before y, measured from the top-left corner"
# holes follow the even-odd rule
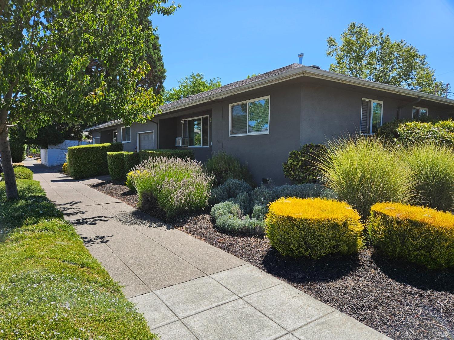
[[[230,104],[229,136],[270,133],[270,96]]]

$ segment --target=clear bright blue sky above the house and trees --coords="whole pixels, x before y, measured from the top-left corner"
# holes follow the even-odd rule
[[[180,0],[175,15],[153,15],[167,89],[192,72],[222,84],[298,62],[328,69],[326,39],[351,21],[391,39],[405,39],[427,55],[437,78],[454,88],[454,0],[213,1]],[[452,91],[452,90],[451,90]]]

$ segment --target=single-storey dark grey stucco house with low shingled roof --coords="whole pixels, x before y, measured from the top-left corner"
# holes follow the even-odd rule
[[[454,100],[293,63],[161,107],[146,124],[93,126],[95,143],[125,151],[192,148],[197,160],[224,150],[247,162],[257,183],[288,182],[291,150],[356,131],[374,134],[396,118],[453,116]],[[181,137],[181,138],[180,138]]]

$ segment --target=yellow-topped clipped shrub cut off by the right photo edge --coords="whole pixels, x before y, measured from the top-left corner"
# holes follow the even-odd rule
[[[375,247],[430,269],[454,266],[454,215],[400,203],[376,203],[367,225]]]

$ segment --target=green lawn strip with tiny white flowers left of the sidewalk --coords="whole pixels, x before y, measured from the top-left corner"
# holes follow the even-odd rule
[[[38,181],[0,183],[0,339],[158,339]]]

